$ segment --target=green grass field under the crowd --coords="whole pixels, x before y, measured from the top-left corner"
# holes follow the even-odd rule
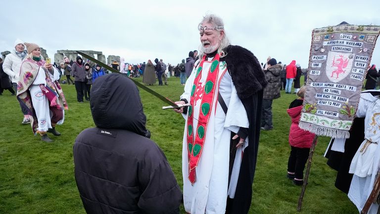
[[[142,78],[138,78],[142,81]],[[177,101],[183,93],[179,78],[169,78],[169,86],[149,86]],[[94,127],[90,104],[78,103],[73,85],[63,85],[69,110],[65,122],[57,126],[62,136],[44,143],[33,136],[30,125],[22,125],[22,113],[14,96],[0,96],[0,214],[84,214],[74,180],[72,147],[76,136]],[[127,92],[126,92],[127,93]],[[141,90],[147,128],[151,139],[164,151],[182,187],[181,150],[184,119],[160,100]],[[301,188],[286,178],[290,151],[290,118],[286,113],[295,95],[285,94],[273,102],[274,129],[262,131],[250,213],[295,214]],[[128,111],[128,109],[120,109]],[[323,157],[329,138],[319,137],[313,157],[309,184],[301,214],[355,214],[356,207],[334,187],[336,172]],[[122,170],[122,169],[120,169]],[[183,208],[182,212],[183,212]]]

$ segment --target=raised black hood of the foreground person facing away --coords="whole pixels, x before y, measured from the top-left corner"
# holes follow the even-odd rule
[[[91,113],[96,127],[125,129],[145,136],[146,116],[137,86],[112,73],[96,79],[91,90]]]

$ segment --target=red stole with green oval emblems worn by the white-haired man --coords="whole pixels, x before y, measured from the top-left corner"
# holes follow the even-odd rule
[[[202,76],[203,63],[206,61],[206,55],[203,55],[202,61],[196,71],[194,83],[191,88],[190,105],[188,108],[188,160],[189,160],[189,180],[193,184],[195,182],[195,167],[198,165],[202,149],[205,142],[205,133],[208,120],[211,115],[212,104],[215,101],[215,88],[219,74],[220,55],[216,54],[213,58],[209,71],[207,72],[206,81],[202,84],[200,79]],[[200,112],[198,117],[197,128],[193,129],[192,109],[195,107],[196,100],[201,100]],[[194,131],[194,134],[193,134]],[[195,135],[195,136],[194,136]],[[195,139],[194,139],[195,138]]]

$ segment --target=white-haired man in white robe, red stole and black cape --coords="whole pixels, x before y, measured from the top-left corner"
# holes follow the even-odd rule
[[[191,214],[245,214],[260,134],[265,75],[248,50],[232,46],[223,20],[198,25],[199,59],[177,104],[183,113],[184,206]]]

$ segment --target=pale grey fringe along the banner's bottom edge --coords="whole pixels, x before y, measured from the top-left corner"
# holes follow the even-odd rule
[[[323,127],[315,124],[311,124],[304,121],[299,121],[298,127],[314,133],[318,136],[327,136],[332,138],[349,138],[350,133],[347,130],[338,130],[328,127]]]

